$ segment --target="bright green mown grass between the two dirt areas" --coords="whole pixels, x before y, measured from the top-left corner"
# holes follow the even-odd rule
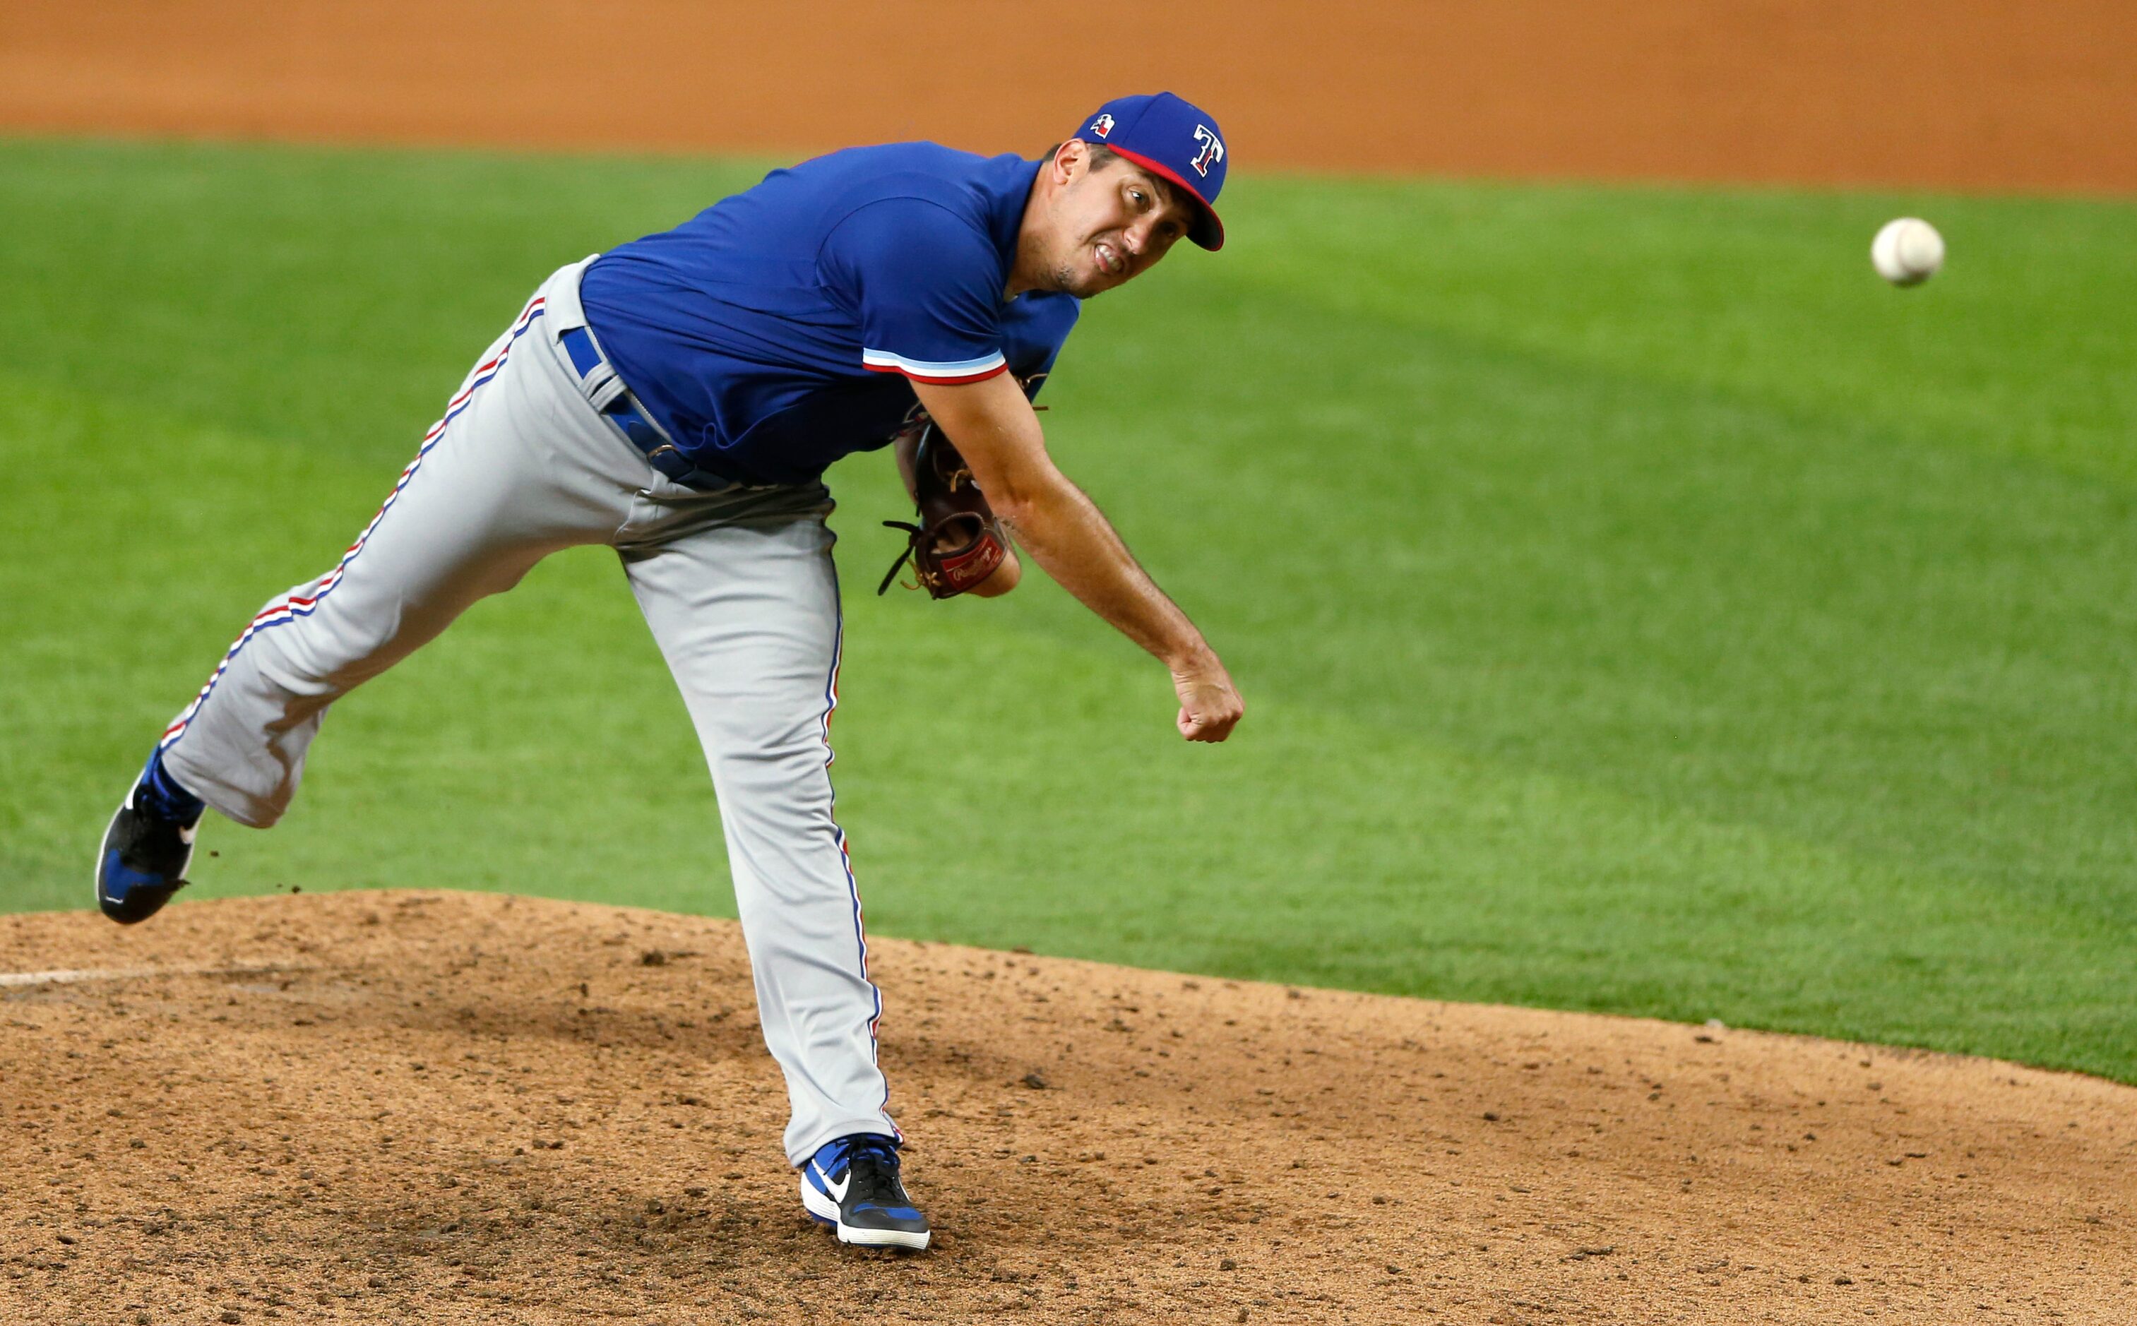
[[[323,572],[556,265],[761,167],[0,143],[0,905],[83,907],[147,743]],[[2137,205],[1239,177],[1092,303],[1051,446],[1248,696],[1222,747],[1036,579],[870,596],[876,933],[1776,1027],[2137,1080]],[[1925,214],[1945,275],[1870,235]],[[731,914],[613,555],[333,713],[197,895]]]

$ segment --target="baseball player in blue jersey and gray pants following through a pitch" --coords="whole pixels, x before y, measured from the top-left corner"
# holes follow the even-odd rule
[[[1180,735],[1222,741],[1242,715],[1231,677],[1054,468],[1030,393],[1081,299],[1180,239],[1222,246],[1225,169],[1214,117],[1169,92],[1126,96],[1041,160],[833,152],[560,269],[340,564],[269,600],[165,730],[105,831],[98,905],[152,916],[186,882],[205,807],[256,828],[282,818],[333,700],[545,555],[605,542],[712,767],[804,1206],[844,1243],[925,1247],[831,818],[842,617],[823,472],[902,440],[917,487],[977,483],[987,532],[998,517],[1165,662]],[[932,455],[921,433],[938,436]],[[992,534],[915,534],[923,583],[1013,587],[1007,540],[974,564],[949,544]]]

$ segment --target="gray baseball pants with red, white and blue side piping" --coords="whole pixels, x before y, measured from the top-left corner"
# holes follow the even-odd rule
[[[265,828],[288,809],[333,700],[549,553],[613,547],[712,764],[799,1166],[831,1138],[898,1136],[876,1065],[883,1001],[831,820],[831,495],[821,483],[705,493],[656,472],[558,344],[586,325],[583,267],[551,275],[477,361],[340,566],[261,609],[165,732],[162,764]]]

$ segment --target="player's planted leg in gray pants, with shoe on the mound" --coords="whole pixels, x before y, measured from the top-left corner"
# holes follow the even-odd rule
[[[895,1187],[895,1151],[851,1142],[863,1166],[842,1164],[844,1151],[829,1145],[895,1142],[898,1125],[876,1065],[883,1004],[868,978],[861,899],[831,818],[840,609],[829,510],[821,485],[703,495],[662,480],[620,551],[712,764],[756,1014],[793,1106],[786,1157],[804,1168],[818,1151],[836,1153],[831,1204],[857,1206],[861,1179],[885,1166]],[[876,1204],[906,1209],[912,1228],[861,1228],[874,1211],[829,1219],[848,1241],[925,1247],[927,1226],[902,1191]]]

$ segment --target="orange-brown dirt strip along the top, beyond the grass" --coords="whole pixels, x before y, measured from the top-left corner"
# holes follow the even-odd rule
[[[1039,152],[1175,88],[1244,171],[2137,192],[2131,0],[26,0],[0,126]]]

